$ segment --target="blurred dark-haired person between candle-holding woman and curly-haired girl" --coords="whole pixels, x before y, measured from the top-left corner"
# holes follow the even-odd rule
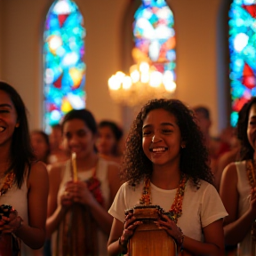
[[[123,130],[115,122],[103,120],[98,124],[98,132],[96,148],[100,157],[121,163]]]

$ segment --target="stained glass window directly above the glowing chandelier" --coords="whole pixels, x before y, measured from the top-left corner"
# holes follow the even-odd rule
[[[136,63],[149,61],[162,74],[172,72],[175,80],[176,40],[174,18],[164,0],[143,0],[134,14],[132,57]]]

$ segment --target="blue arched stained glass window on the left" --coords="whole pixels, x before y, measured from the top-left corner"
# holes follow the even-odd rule
[[[44,127],[85,107],[84,19],[73,1],[55,1],[44,26]]]

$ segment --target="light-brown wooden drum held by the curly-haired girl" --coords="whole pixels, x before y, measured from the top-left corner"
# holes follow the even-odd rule
[[[161,208],[157,205],[140,205],[126,212],[143,222],[130,239],[129,256],[175,256],[177,245],[171,236],[159,229],[154,221],[159,218]],[[163,210],[162,210],[163,211]]]

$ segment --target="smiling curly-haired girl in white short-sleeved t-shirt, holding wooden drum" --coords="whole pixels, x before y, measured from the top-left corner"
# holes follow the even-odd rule
[[[126,140],[121,174],[126,182],[108,211],[114,217],[109,255],[133,250],[128,242],[148,221],[129,212],[138,205],[159,205],[155,229],[164,229],[180,253],[224,254],[222,219],[227,212],[212,186],[203,135],[193,112],[180,100],[150,100],[141,108]],[[154,247],[154,239],[149,245]]]

